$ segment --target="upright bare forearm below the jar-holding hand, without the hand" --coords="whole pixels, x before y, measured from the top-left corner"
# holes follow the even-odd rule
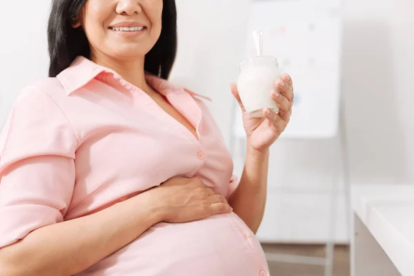
[[[242,178],[228,200],[253,233],[262,222],[266,206],[268,159],[268,150],[259,152],[248,146]]]

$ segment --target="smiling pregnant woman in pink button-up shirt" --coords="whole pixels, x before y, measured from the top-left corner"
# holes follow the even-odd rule
[[[237,182],[206,99],[167,81],[173,0],[55,0],[48,42],[0,137],[0,275],[269,275],[254,233],[290,77],[278,115],[244,114]]]

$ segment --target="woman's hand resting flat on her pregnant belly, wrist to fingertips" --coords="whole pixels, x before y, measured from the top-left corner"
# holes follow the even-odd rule
[[[224,196],[196,177],[173,177],[146,193],[153,197],[152,204],[155,202],[162,221],[171,223],[195,221],[233,210]]]

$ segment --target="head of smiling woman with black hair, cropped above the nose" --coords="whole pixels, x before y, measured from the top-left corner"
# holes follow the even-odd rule
[[[53,1],[48,28],[50,77],[56,77],[78,56],[96,60],[91,55],[99,55],[98,59],[120,60],[145,56],[146,72],[168,79],[177,52],[175,1],[112,2]],[[113,36],[114,27],[123,28],[115,31],[120,37]],[[130,34],[124,27],[144,30]],[[122,39],[125,36],[135,39]]]

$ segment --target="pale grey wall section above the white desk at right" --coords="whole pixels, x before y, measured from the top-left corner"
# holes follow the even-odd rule
[[[414,2],[346,3],[343,70],[352,179],[414,183]]]

